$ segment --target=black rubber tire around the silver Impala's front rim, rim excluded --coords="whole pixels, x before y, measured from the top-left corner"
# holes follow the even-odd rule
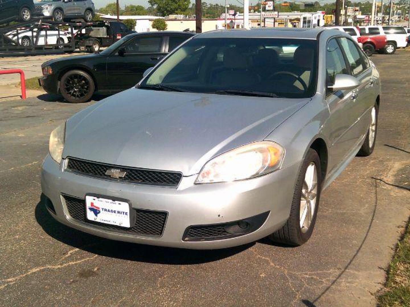
[[[302,197],[302,188],[303,182],[305,181],[305,173],[307,167],[310,163],[314,163],[316,166],[317,172],[317,194],[316,194],[316,203],[314,213],[310,222],[310,226],[307,228],[305,232],[302,231],[300,226],[300,207],[301,207],[301,197]],[[320,169],[320,159],[318,153],[313,150],[309,149],[306,154],[306,158],[303,161],[301,170],[298,175],[298,179],[296,181],[296,187],[293,194],[292,206],[290,209],[289,219],[285,223],[285,225],[280,228],[275,233],[269,235],[269,238],[273,242],[291,245],[291,246],[299,246],[305,243],[310,236],[312,235],[314,225],[316,223],[317,211],[319,209],[319,201],[320,201],[320,192],[322,188],[322,178],[321,178],[321,169]]]

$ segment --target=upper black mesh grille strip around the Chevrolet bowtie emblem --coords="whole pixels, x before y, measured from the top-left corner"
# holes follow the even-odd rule
[[[125,171],[124,178],[113,179],[105,173],[107,170],[116,168]],[[156,171],[151,169],[140,169],[133,167],[117,166],[104,163],[85,161],[75,158],[68,158],[66,170],[87,176],[104,178],[108,180],[139,183],[147,185],[161,185],[168,187],[178,187],[182,179],[182,174],[178,172]]]

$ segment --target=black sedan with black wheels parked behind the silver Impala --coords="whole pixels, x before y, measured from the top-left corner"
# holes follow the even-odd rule
[[[148,68],[194,35],[170,31],[130,34],[102,52],[43,63],[39,83],[47,93],[61,94],[69,102],[87,102],[97,91],[117,93],[137,84]]]

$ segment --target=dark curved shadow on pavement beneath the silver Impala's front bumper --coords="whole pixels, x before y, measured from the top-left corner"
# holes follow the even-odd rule
[[[43,196],[35,208],[35,217],[43,230],[54,239],[89,253],[130,261],[157,264],[200,264],[240,253],[254,243],[217,250],[191,250],[114,241],[83,233],[56,221],[46,209]]]

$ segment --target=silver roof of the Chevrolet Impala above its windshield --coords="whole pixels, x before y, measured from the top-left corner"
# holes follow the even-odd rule
[[[215,30],[198,34],[198,38],[304,38],[317,39],[323,28],[251,28]]]

